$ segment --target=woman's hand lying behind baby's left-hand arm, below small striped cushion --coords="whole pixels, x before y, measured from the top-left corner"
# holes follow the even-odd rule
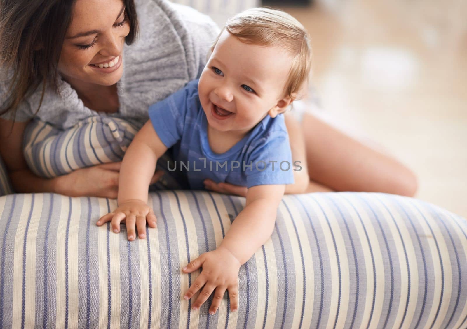
[[[57,193],[71,197],[101,197],[117,199],[121,162],[112,162],[78,169],[55,178]],[[156,171],[151,184],[156,183],[163,171]]]

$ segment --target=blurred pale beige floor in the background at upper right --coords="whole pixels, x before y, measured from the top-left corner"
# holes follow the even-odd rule
[[[418,199],[467,218],[467,1],[264,5],[310,32],[326,115],[410,167]]]

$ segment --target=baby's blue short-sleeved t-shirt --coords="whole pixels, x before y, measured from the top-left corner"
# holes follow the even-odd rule
[[[206,178],[248,188],[294,182],[289,136],[282,114],[275,118],[266,116],[222,154],[214,153],[209,146],[198,80],[151,105],[149,118],[163,144],[173,146],[175,164],[169,170],[182,170],[191,189],[204,189]]]

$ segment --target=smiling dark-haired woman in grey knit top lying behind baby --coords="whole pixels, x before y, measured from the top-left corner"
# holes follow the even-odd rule
[[[22,155],[28,122],[38,117],[65,129],[101,115],[143,123],[149,104],[199,76],[218,28],[166,0],[0,3],[0,72],[6,77],[0,81],[0,155],[14,189],[116,198],[120,163],[52,179],[33,174]],[[286,192],[415,193],[416,180],[403,165],[311,115],[301,123],[287,117],[287,127],[293,157],[307,170],[296,172]],[[244,194],[233,185],[206,187]]]

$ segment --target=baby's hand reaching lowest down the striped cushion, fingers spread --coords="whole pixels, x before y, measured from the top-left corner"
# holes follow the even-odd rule
[[[226,290],[228,290],[230,298],[230,310],[232,312],[238,309],[238,272],[240,270],[240,261],[226,248],[219,247],[216,250],[201,254],[197,259],[192,260],[186,267],[184,273],[196,271],[199,267],[203,267],[201,274],[193,282],[191,287],[186,292],[184,298],[189,300],[193,295],[200,290],[203,290],[198,296],[192,308],[198,309],[212,294],[214,289],[214,298],[212,300],[209,313],[216,313],[220,302]]]

